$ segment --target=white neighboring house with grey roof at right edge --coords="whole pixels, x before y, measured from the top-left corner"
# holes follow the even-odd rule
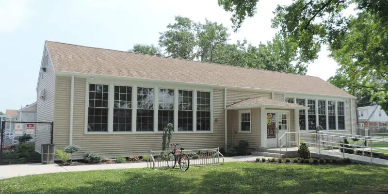
[[[377,133],[381,126],[388,126],[388,115],[380,105],[358,107],[358,126],[368,128],[371,133]]]

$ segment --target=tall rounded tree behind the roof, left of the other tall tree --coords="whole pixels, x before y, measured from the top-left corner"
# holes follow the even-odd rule
[[[167,31],[160,32],[159,46],[164,47],[169,57],[194,59],[195,35],[193,21],[176,16],[176,23],[168,24]]]

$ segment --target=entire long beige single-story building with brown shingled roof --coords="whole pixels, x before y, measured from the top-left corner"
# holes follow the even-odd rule
[[[57,148],[81,146],[76,158],[160,150],[170,122],[171,143],[189,149],[356,132],[356,98],[318,77],[46,41],[38,79],[36,120],[54,122]]]

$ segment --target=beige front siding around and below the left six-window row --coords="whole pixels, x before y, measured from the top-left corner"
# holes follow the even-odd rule
[[[56,125],[54,140],[57,148],[68,144],[69,137],[69,107],[70,107],[70,77],[57,77]],[[59,83],[61,82],[61,83]],[[85,86],[86,80],[75,78],[74,84],[74,123],[73,144],[81,146],[81,151],[75,158],[92,151],[104,157],[118,155],[146,155],[150,149],[160,150],[162,147],[162,133],[129,133],[129,134],[85,134]],[[224,90],[213,90],[213,132],[212,133],[174,133],[171,143],[179,143],[186,149],[214,148],[225,145],[225,111]]]

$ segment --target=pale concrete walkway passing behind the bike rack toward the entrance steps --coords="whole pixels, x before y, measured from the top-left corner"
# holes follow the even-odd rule
[[[255,161],[256,158],[258,157],[257,156],[225,157],[225,162]],[[268,157],[260,157],[260,158],[268,159]],[[57,164],[42,165],[40,163],[0,165],[0,179],[26,176],[26,175],[60,173],[60,172],[79,172],[79,171],[89,171],[89,170],[113,170],[113,169],[127,169],[127,168],[146,168],[146,167],[147,167],[147,162],[94,164],[94,165],[79,165],[79,166],[59,166]]]

